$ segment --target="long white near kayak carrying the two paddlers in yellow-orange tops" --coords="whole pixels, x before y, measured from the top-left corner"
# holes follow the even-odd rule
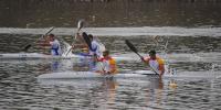
[[[179,74],[165,74],[162,78],[166,79],[214,79],[219,78],[219,73],[211,72],[187,72]],[[94,79],[94,78],[159,78],[158,75],[151,70],[137,70],[130,74],[115,74],[115,75],[101,75],[93,72],[63,72],[43,74],[38,79]]]

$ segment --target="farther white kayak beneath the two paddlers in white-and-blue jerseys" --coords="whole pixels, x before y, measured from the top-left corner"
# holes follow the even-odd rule
[[[62,56],[52,56],[52,55],[45,55],[40,53],[7,53],[7,54],[0,54],[0,59],[70,59],[70,58],[91,58],[91,55],[85,53],[78,53],[78,54],[71,54],[71,55],[62,55]],[[124,59],[131,59],[130,57],[118,57],[115,56],[117,61],[124,61]]]

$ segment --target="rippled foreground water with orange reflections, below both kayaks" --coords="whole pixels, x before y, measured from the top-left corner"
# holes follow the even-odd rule
[[[70,62],[70,63],[69,63]],[[59,63],[59,68],[54,63]],[[119,65],[120,62],[118,63]],[[136,64],[136,63],[135,63]],[[57,65],[57,64],[56,64]],[[3,61],[1,109],[210,109],[220,108],[220,80],[36,80],[45,73],[81,68],[75,61]],[[129,66],[130,65],[130,66]],[[138,65],[138,63],[137,63]],[[134,66],[127,63],[126,69]],[[135,67],[134,67],[135,68]],[[144,69],[144,68],[141,68]],[[176,85],[176,86],[175,86]],[[197,101],[196,101],[197,100]],[[212,105],[215,107],[211,107]],[[199,106],[200,105],[200,106]]]

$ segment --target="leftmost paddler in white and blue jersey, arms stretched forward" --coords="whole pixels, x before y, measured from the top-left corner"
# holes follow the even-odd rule
[[[54,34],[49,34],[44,43],[40,43],[42,46],[51,46],[51,55],[60,56],[62,55],[61,44],[59,40],[55,38]]]

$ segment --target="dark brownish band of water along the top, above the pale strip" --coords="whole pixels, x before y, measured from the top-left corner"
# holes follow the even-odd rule
[[[0,26],[220,26],[220,0],[1,0]]]

